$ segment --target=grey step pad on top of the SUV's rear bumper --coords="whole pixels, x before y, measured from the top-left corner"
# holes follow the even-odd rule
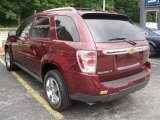
[[[123,85],[135,80],[138,80],[139,78],[143,78],[149,74],[148,71],[142,71],[137,74],[131,75],[129,77],[113,80],[113,81],[107,81],[107,82],[101,82],[102,85],[107,86],[107,87],[112,87],[112,86],[119,86]]]

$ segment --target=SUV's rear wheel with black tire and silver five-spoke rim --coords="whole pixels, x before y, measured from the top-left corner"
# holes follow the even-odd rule
[[[43,87],[47,101],[54,109],[63,111],[71,106],[64,79],[58,70],[47,72]]]

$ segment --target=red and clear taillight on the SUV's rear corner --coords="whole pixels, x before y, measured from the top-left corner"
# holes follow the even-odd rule
[[[77,51],[77,60],[79,67],[84,73],[95,73],[97,65],[97,52],[96,51]]]

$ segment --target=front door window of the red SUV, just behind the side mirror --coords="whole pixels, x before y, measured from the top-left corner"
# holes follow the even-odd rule
[[[32,26],[33,18],[27,19],[18,29],[18,36],[27,38],[30,37],[30,29]]]

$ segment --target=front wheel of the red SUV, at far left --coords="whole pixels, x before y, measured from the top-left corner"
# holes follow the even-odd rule
[[[9,49],[5,50],[5,63],[8,71],[12,71],[15,69],[15,65],[13,64],[13,57]]]

